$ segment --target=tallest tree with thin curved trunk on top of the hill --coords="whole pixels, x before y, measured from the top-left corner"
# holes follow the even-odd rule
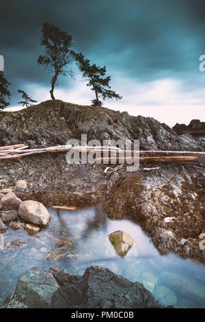
[[[59,27],[44,23],[42,25],[42,40],[40,45],[45,46],[45,55],[38,57],[38,64],[44,65],[49,72],[54,73],[51,79],[51,99],[55,99],[53,91],[57,84],[59,75],[70,75],[73,77],[72,71],[66,71],[67,64],[72,62],[73,57],[70,55],[70,47],[72,36],[67,32],[61,31]]]

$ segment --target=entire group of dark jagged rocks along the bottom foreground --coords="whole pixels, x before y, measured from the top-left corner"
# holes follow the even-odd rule
[[[163,308],[138,282],[109,269],[89,267],[84,275],[33,267],[20,275],[14,295],[1,308]]]

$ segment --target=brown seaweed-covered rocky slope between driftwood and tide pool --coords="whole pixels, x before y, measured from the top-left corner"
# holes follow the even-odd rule
[[[39,201],[46,207],[97,206],[110,219],[139,223],[161,253],[171,251],[205,262],[200,249],[205,221],[203,159],[132,173],[124,166],[109,176],[104,173],[107,165],[68,165],[64,153],[2,165],[1,188],[12,189],[21,200]],[[19,179],[27,182],[27,188],[16,188]]]

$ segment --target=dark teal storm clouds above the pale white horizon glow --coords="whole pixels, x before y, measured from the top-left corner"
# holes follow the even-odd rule
[[[83,51],[108,71],[150,81],[178,77],[187,89],[203,82],[199,56],[205,54],[205,3],[200,0],[1,0],[0,54],[5,75],[17,88],[49,86],[49,76],[36,62],[42,23],[61,27]],[[72,86],[61,79],[61,86]],[[184,83],[185,84],[185,83]]]

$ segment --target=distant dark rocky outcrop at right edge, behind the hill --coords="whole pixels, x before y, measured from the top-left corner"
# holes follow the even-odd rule
[[[205,134],[205,122],[200,120],[192,120],[189,125],[178,124],[172,127],[177,134],[190,133],[193,135]]]

